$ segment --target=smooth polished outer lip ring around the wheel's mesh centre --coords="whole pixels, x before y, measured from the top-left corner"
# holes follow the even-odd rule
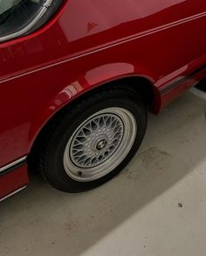
[[[115,149],[115,152],[107,160],[100,163],[96,167],[77,167],[73,164],[70,157],[72,139],[75,138],[79,129],[81,129],[89,120],[93,117],[98,117],[102,114],[114,114],[119,117],[124,124],[123,136],[120,141],[120,145]],[[127,157],[127,153],[130,152],[134,145],[134,140],[137,134],[137,123],[133,113],[130,110],[120,107],[106,108],[94,113],[91,117],[79,125],[79,127],[72,133],[71,138],[65,146],[63,164],[65,173],[75,181],[95,181],[106,174],[109,174],[115,167],[118,167],[120,163]]]

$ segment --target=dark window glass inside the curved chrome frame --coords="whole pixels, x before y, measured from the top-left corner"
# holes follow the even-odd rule
[[[24,29],[45,0],[0,0],[0,37]]]

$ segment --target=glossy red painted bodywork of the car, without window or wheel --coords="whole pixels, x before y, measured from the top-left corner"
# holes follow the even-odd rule
[[[37,32],[0,44],[0,167],[28,155],[58,110],[106,82],[144,77],[158,113],[206,77],[205,27],[205,0],[68,0]],[[24,186],[26,167],[19,172],[0,177],[0,197]]]

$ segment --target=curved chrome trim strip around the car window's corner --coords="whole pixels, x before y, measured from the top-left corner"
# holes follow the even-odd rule
[[[18,32],[13,32],[10,35],[7,35],[7,36],[4,36],[4,37],[0,38],[0,42],[7,41],[9,39],[17,38],[17,37],[25,34],[26,32],[29,32],[31,30],[31,28],[38,23],[38,20],[43,17],[43,15],[47,11],[47,9],[50,7],[52,2],[53,2],[53,0],[45,1],[42,8],[38,11],[37,16],[35,18],[33,18],[33,20],[31,20],[31,23],[29,25],[26,25],[22,30],[19,30]]]

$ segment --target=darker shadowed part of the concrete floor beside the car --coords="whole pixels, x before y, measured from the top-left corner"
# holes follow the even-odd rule
[[[82,194],[30,174],[29,187],[0,205],[1,255],[82,255],[184,179],[206,159],[203,103],[188,93],[149,115],[140,152],[113,181]]]

